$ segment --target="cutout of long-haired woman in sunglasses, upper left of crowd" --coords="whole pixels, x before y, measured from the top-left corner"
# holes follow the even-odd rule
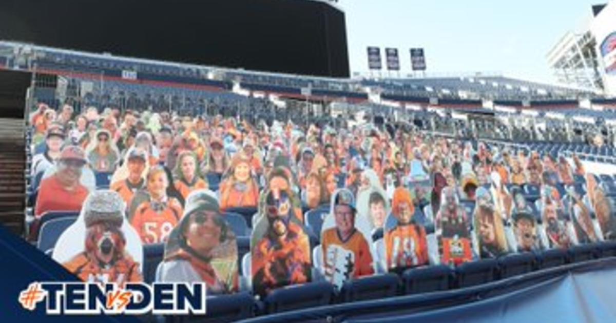
[[[95,172],[110,173],[115,170],[120,159],[120,152],[111,141],[108,130],[97,131],[94,140],[87,149],[87,159]]]

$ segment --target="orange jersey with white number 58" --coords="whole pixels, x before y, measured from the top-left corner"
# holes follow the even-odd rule
[[[169,199],[158,212],[153,209],[152,202],[145,201],[137,207],[131,225],[144,244],[158,244],[167,241],[181,217],[182,206],[176,199]]]

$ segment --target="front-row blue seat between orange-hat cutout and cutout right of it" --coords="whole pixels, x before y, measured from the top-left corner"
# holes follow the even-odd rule
[[[410,268],[402,274],[402,288],[405,295],[448,290],[453,273],[447,265]]]

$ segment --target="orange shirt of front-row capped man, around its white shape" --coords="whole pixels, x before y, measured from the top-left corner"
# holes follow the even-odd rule
[[[323,257],[325,261],[326,273],[330,270],[333,264],[328,261],[328,249],[330,245],[339,245],[343,249],[349,250],[354,253],[354,263],[352,268],[352,277],[357,278],[361,276],[368,276],[375,273],[375,269],[372,265],[372,254],[370,253],[370,246],[363,237],[362,233],[355,230],[351,237],[342,242],[337,228],[331,228],[323,231],[321,245],[323,247]]]

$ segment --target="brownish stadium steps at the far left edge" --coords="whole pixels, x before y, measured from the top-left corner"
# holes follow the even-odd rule
[[[26,154],[22,119],[0,119],[0,223],[24,233]]]

